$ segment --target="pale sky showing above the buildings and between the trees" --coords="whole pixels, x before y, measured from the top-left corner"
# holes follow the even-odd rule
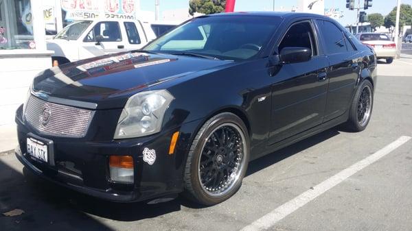
[[[347,10],[345,0],[324,0],[325,8],[339,8],[343,17],[338,21],[343,25],[356,23],[356,10]],[[355,5],[359,0],[355,0]],[[363,5],[363,0],[361,5]],[[400,0],[402,3],[412,5],[412,0]],[[189,8],[188,0],[159,0],[160,11],[179,8]],[[380,13],[384,16],[396,7],[397,0],[373,0],[372,7],[366,10],[368,14]],[[155,0],[141,0],[141,10],[155,11]],[[275,8],[291,9],[297,5],[297,0],[275,0]],[[273,0],[236,0],[235,11],[261,11],[272,10]]]

